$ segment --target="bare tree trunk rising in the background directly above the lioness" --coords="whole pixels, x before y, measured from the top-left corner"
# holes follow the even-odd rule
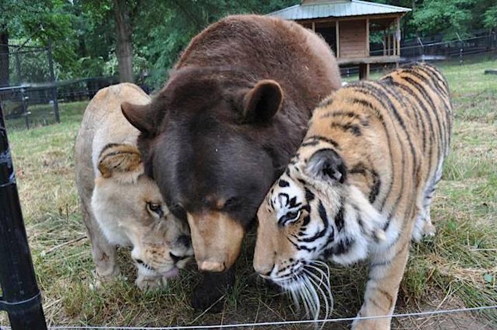
[[[114,19],[116,21],[116,56],[119,65],[119,81],[133,81],[130,11],[126,0],[114,0]]]

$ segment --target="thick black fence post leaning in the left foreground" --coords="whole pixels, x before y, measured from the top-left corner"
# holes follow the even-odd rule
[[[12,330],[46,330],[0,106],[0,311]]]

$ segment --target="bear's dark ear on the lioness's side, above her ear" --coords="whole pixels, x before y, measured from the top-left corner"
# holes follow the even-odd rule
[[[121,111],[131,125],[148,136],[156,135],[157,127],[163,118],[163,112],[156,109],[152,103],[139,105],[123,102]]]

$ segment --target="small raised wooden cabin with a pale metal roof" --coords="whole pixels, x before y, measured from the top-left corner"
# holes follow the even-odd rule
[[[360,0],[303,0],[300,5],[268,15],[291,19],[321,34],[335,52],[338,65],[359,65],[359,77],[369,77],[369,65],[400,61],[400,19],[409,8]],[[376,45],[372,53],[372,35]]]

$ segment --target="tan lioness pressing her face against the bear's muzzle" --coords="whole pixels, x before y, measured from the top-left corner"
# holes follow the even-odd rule
[[[76,181],[97,277],[117,276],[116,245],[130,246],[136,285],[143,288],[178,274],[193,250],[187,225],[169,212],[144,174],[139,131],[123,117],[123,101],[145,104],[150,98],[121,83],[100,90],[88,104],[76,141]]]

